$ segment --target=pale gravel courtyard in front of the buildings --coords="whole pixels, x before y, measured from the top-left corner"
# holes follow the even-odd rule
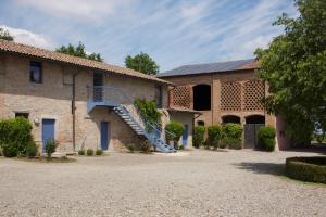
[[[279,176],[286,157],[315,154],[184,153],[0,157],[0,216],[326,216],[326,186]]]

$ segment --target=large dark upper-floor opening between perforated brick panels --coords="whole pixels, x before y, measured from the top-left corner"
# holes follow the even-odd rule
[[[209,111],[211,110],[211,86],[197,85],[193,90],[193,110]]]

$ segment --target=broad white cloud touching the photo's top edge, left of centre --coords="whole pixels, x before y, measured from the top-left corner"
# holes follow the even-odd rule
[[[134,0],[15,0],[21,5],[29,5],[41,12],[61,17],[77,17],[84,21],[100,21],[118,12],[123,5]]]

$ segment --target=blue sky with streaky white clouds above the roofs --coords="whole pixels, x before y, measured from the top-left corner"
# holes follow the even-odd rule
[[[82,41],[110,64],[148,53],[160,72],[253,58],[283,33],[273,26],[292,0],[0,0],[0,28],[49,50]]]

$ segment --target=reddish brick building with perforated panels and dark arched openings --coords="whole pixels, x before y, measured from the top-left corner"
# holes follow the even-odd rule
[[[195,125],[239,123],[244,126],[243,148],[254,148],[259,127],[269,125],[277,129],[277,148],[285,150],[289,140],[283,119],[267,114],[261,104],[268,91],[254,74],[259,66],[253,59],[184,65],[156,77],[176,85],[170,90],[171,107],[202,113],[195,117]]]

